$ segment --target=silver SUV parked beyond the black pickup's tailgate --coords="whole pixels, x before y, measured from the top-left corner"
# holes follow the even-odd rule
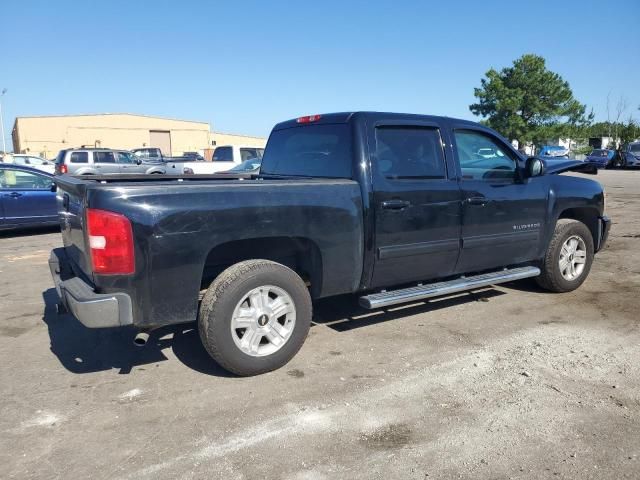
[[[116,173],[165,173],[163,164],[144,163],[126,150],[107,148],[69,148],[60,150],[55,162],[55,174],[111,175]]]

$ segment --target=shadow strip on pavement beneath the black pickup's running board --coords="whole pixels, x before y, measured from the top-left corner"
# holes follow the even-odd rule
[[[489,299],[500,295],[505,295],[505,292],[487,287],[375,310],[362,308],[358,305],[357,297],[345,295],[319,301],[315,306],[313,324],[325,325],[337,332],[345,332],[463,303],[488,302]]]

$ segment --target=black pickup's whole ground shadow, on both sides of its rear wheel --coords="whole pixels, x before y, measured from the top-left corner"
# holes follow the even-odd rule
[[[463,303],[487,302],[504,294],[488,287],[377,310],[366,310],[358,305],[356,296],[343,295],[319,301],[315,305],[312,326],[325,325],[337,332],[345,332]],[[129,374],[134,367],[167,360],[163,351],[171,349],[185,366],[197,372],[218,377],[235,377],[220,367],[206,352],[195,322],[153,330],[147,344],[137,347],[133,344],[135,328],[86,328],[72,315],[57,313],[59,298],[54,288],[44,291],[42,298],[45,304],[43,321],[49,329],[51,352],[72,373],[117,369],[119,374]]]

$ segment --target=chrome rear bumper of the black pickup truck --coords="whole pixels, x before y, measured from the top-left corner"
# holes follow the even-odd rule
[[[63,305],[87,328],[133,324],[131,298],[126,293],[96,293],[73,270],[63,248],[51,251],[49,269]]]

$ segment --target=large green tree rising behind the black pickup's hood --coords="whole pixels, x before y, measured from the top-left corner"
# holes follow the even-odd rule
[[[545,59],[527,54],[501,71],[490,69],[474,89],[471,112],[509,140],[541,143],[569,136],[593,120],[573,97],[569,83],[547,70]]]

